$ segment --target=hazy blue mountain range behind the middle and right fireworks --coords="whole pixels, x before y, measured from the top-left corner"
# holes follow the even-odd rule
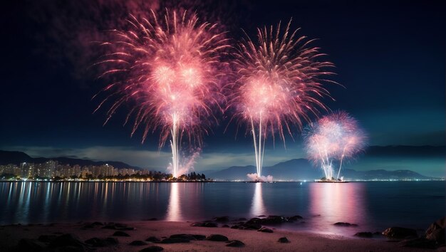
[[[249,180],[248,173],[255,173],[256,167],[229,167],[218,172],[207,174],[207,177],[217,180]],[[291,159],[286,162],[275,164],[272,167],[264,167],[262,170],[264,176],[271,175],[274,180],[313,180],[321,179],[323,172],[321,169],[314,168],[307,159]],[[425,177],[417,172],[410,170],[387,171],[384,169],[370,171],[356,171],[354,169],[341,170],[341,176],[348,180],[373,180],[373,179],[435,179]]]

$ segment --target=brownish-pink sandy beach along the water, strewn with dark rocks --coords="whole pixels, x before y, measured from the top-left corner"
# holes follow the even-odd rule
[[[432,249],[408,248],[398,241],[388,241],[385,238],[356,238],[346,236],[323,235],[303,231],[281,230],[272,228],[273,233],[264,233],[255,230],[230,229],[229,227],[199,227],[191,226],[191,222],[172,221],[138,221],[116,224],[123,227],[122,232],[129,236],[113,236],[115,229],[106,229],[106,224],[66,223],[66,224],[31,224],[9,225],[0,227],[1,251],[22,251],[18,247],[21,239],[31,239],[45,249],[48,241],[43,237],[57,237],[70,233],[78,241],[85,243],[90,238],[116,238],[118,244],[103,247],[93,247],[83,244],[78,251],[141,251],[150,246],[160,246],[163,251],[432,251]],[[112,224],[112,226],[115,224]],[[131,230],[134,229],[134,230]],[[227,236],[229,241],[238,240],[244,243],[241,247],[229,247],[224,241],[193,240],[186,243],[153,243],[145,241],[151,236],[163,239],[175,234],[202,235],[209,238],[212,234]],[[38,241],[41,236],[41,241]],[[286,237],[289,243],[280,243],[278,240]],[[116,241],[113,239],[113,241]],[[24,241],[24,240],[22,240]],[[145,241],[145,245],[130,245],[133,241]],[[51,250],[52,249],[52,250]],[[51,251],[65,251],[63,248],[51,248]],[[148,250],[147,250],[148,251]],[[155,250],[154,250],[155,251]],[[436,248],[434,251],[446,251],[446,247]]]

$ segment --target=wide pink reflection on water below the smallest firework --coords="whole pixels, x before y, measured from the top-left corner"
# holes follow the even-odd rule
[[[310,213],[320,218],[316,225],[323,225],[321,231],[339,233],[336,222],[363,225],[367,216],[364,206],[365,187],[363,183],[311,183]]]

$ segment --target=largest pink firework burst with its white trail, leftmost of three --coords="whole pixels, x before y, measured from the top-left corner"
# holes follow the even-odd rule
[[[113,39],[101,43],[108,53],[95,64],[105,69],[99,78],[113,81],[96,110],[111,100],[106,123],[119,107],[131,104],[125,120],[134,120],[131,135],[143,128],[144,142],[150,131],[160,130],[160,148],[170,137],[170,166],[179,177],[182,137],[200,144],[215,118],[227,38],[217,24],[199,23],[187,11],[166,11],[161,19],[150,11],[149,19],[130,15],[127,21],[127,30],[113,30]]]

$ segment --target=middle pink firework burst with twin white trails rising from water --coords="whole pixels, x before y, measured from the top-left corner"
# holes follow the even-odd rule
[[[281,31],[258,28],[257,41],[246,35],[238,43],[235,55],[237,80],[229,95],[238,125],[247,124],[254,139],[257,176],[261,177],[267,135],[275,132],[284,141],[291,126],[302,127],[318,110],[325,110],[321,98],[328,95],[322,83],[331,72],[323,69],[333,63],[318,61],[324,54],[309,46],[311,40],[290,31],[291,21]],[[281,34],[282,32],[282,34]]]

